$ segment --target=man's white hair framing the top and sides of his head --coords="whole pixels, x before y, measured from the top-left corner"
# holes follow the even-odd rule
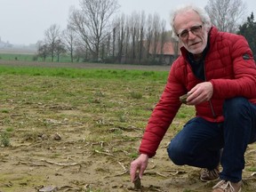
[[[212,21],[208,15],[208,13],[203,8],[193,5],[193,4],[181,5],[180,7],[173,10],[170,14],[173,37],[178,38],[177,33],[176,33],[176,28],[174,27],[174,20],[175,20],[176,16],[182,12],[188,12],[191,10],[196,12],[199,15],[199,17],[201,18],[201,20],[204,23],[204,28],[207,28],[209,30],[212,27]]]

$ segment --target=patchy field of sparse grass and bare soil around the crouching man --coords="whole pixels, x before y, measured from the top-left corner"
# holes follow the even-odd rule
[[[134,191],[129,166],[168,71],[0,66],[0,191]],[[143,191],[203,192],[215,183],[176,166],[166,145],[194,108],[182,105],[141,180]],[[246,191],[255,191],[255,146]],[[253,161],[254,159],[254,161]]]

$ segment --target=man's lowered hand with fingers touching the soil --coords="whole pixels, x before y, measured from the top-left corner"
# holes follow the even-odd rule
[[[143,172],[146,170],[148,166],[148,155],[140,154],[140,156],[132,161],[130,168],[131,181],[134,182],[136,172],[139,170],[139,177],[142,178]]]

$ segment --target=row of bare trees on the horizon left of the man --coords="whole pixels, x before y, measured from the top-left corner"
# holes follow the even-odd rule
[[[166,23],[158,14],[133,12],[116,15],[116,0],[81,0],[81,9],[72,9],[68,27],[60,31],[53,24],[38,42],[38,56],[59,60],[69,53],[70,60],[148,63],[156,60],[156,46],[167,41]],[[170,40],[170,39],[169,39]],[[154,47],[154,48],[152,48]],[[153,50],[149,54],[149,49]],[[158,60],[160,61],[160,60]],[[161,62],[161,61],[160,61]]]

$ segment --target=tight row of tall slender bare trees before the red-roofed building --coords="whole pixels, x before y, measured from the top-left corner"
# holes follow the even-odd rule
[[[145,12],[132,12],[126,17],[124,14],[117,16],[113,22],[112,34],[108,36],[107,47],[112,53],[108,55],[112,55],[112,59],[119,63],[148,64],[153,61],[151,64],[156,64],[158,58],[161,61],[167,40],[165,24],[156,13],[154,17],[149,14],[148,18]],[[149,57],[151,55],[153,57]]]

